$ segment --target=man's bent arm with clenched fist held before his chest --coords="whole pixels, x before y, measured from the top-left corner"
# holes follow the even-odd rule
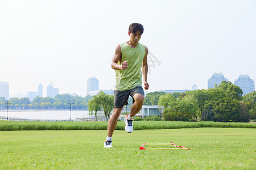
[[[122,62],[121,59],[122,58],[122,50],[121,50],[121,46],[118,45],[117,48],[115,48],[115,53],[114,56],[112,58],[112,63],[111,63],[111,67],[114,70],[125,70],[128,67],[128,63],[127,61]],[[118,61],[122,62],[121,65],[118,65]]]

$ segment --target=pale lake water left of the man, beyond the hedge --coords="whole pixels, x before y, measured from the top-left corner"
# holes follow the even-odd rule
[[[98,114],[99,116],[101,114]],[[0,110],[0,116],[7,116],[7,110]],[[9,110],[8,117],[27,118],[34,120],[76,120],[76,118],[94,118],[89,111],[69,110]]]

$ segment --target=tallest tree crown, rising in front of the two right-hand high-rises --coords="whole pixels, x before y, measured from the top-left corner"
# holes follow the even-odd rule
[[[242,100],[242,94],[243,94],[242,89],[232,84],[231,82],[223,81],[218,86],[218,88],[221,88],[222,90],[224,90],[226,96],[229,97],[230,99]]]

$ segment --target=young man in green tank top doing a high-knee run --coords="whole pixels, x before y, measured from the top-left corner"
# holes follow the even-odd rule
[[[147,83],[147,53],[146,46],[139,43],[144,31],[143,25],[132,23],[129,26],[129,41],[119,44],[115,48],[112,58],[112,69],[115,70],[115,91],[114,91],[114,109],[108,123],[108,134],[104,147],[112,146],[112,135],[117,125],[123,106],[128,104],[129,96],[133,97],[133,105],[130,114],[125,117],[125,130],[128,133],[133,131],[133,117],[137,114],[143,105],[144,91],[142,88],[142,75],[145,90],[148,90]]]

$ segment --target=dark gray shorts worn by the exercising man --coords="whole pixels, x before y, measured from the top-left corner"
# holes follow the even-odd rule
[[[115,90],[114,91],[114,107],[122,108],[124,105],[128,104],[129,96],[133,98],[135,94],[142,94],[144,96],[144,91],[141,86],[136,86],[130,90]],[[134,103],[133,98],[133,103]]]

